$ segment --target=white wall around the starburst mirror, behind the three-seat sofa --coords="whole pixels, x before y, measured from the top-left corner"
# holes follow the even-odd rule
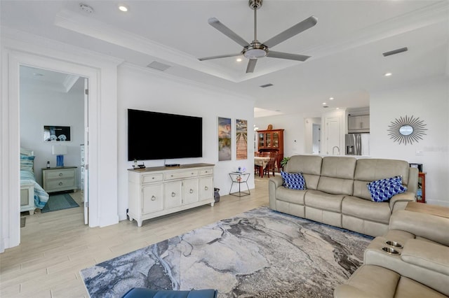
[[[449,206],[449,78],[436,77],[410,82],[370,96],[370,152],[373,157],[404,159],[423,164],[426,201]],[[387,132],[397,118],[412,116],[424,120],[422,140],[399,144]]]

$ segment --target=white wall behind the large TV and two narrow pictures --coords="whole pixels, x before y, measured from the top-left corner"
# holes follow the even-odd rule
[[[132,162],[128,162],[127,109],[192,115],[203,118],[203,157],[170,159],[166,163],[215,164],[214,186],[220,188],[220,194],[229,194],[232,180],[229,173],[241,166],[249,171],[253,169],[253,99],[246,99],[226,90],[211,90],[204,85],[196,85],[187,80],[166,73],[137,68],[122,64],[118,69],[118,175],[119,175],[119,217],[126,219],[128,208],[128,171]],[[232,160],[218,161],[217,118],[232,119]],[[236,160],[236,119],[248,120],[248,159]],[[161,127],[148,127],[154,130],[155,146],[158,135],[163,134]],[[180,133],[189,128],[180,127]],[[173,136],[175,138],[176,136]],[[180,150],[188,144],[180,144]],[[145,166],[163,166],[163,159],[145,160]],[[248,179],[250,188],[254,188],[254,177]]]

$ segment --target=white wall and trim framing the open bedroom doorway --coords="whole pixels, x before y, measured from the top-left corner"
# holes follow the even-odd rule
[[[117,214],[117,65],[120,59],[21,34],[1,32],[0,253],[20,243],[21,65],[89,79],[89,227],[119,222]]]

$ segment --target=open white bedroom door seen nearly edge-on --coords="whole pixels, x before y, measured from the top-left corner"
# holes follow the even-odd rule
[[[84,201],[84,225],[89,224],[89,112],[88,112],[88,97],[89,85],[88,78],[84,78],[84,187],[83,187],[83,201]]]

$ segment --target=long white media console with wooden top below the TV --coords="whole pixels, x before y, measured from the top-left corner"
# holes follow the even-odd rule
[[[128,169],[128,217],[142,221],[198,207],[213,206],[213,164],[182,164]]]

